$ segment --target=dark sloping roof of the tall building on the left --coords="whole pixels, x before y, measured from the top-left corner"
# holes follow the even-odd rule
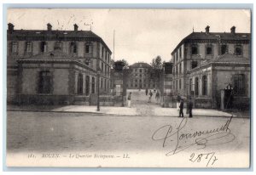
[[[108,45],[102,40],[101,37],[97,36],[92,31],[58,31],[58,30],[52,30],[52,31],[45,31],[45,30],[14,30],[8,32],[8,38],[14,38],[14,37],[21,37],[29,39],[30,37],[38,37],[38,38],[44,38],[52,39],[55,38],[55,40],[68,40],[69,38],[76,41],[80,41],[82,39],[95,39],[96,41],[102,42],[102,44],[108,48]],[[108,51],[110,54],[112,54],[111,50],[108,48]]]

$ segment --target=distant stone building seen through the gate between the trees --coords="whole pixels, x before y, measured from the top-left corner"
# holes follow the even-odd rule
[[[129,66],[130,78],[127,82],[129,89],[159,88],[159,77],[151,65],[138,62]]]

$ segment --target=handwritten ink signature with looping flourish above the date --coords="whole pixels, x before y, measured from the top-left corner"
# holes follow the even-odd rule
[[[188,118],[183,118],[179,123],[177,130],[174,130],[172,125],[165,125],[158,128],[152,135],[154,141],[162,141],[162,147],[173,146],[173,144],[167,144],[168,142],[176,142],[175,148],[166,153],[166,156],[175,155],[183,150],[187,150],[192,146],[195,146],[197,150],[205,149],[209,145],[227,144],[232,142],[236,137],[230,131],[230,122],[233,116],[220,127],[216,127],[211,130],[195,131],[194,133],[183,133],[184,127],[186,127]],[[195,138],[195,139],[194,139]],[[190,139],[194,139],[189,142]],[[181,144],[181,142],[185,144]],[[189,142],[189,144],[187,144]]]

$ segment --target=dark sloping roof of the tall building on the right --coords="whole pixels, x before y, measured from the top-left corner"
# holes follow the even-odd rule
[[[189,36],[184,37],[181,42],[177,44],[177,47],[172,51],[172,54],[179,48],[183,42],[189,42],[190,40],[212,40],[212,42],[221,41],[250,41],[250,33],[226,33],[226,32],[192,32]]]

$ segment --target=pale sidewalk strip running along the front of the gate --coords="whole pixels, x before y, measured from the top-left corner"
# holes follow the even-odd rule
[[[100,111],[96,111],[96,106],[85,105],[66,105],[66,106],[53,106],[53,105],[8,105],[7,110],[15,111],[38,111],[38,112],[74,112],[74,113],[90,113],[97,115],[113,115],[113,116],[171,116],[177,117],[178,111],[176,108],[162,108],[158,105],[150,105],[148,109],[145,106],[137,104],[132,108],[115,107],[115,106],[101,106]],[[148,111],[150,110],[150,111]],[[145,112],[147,111],[147,112]],[[183,110],[184,116],[186,109]],[[228,113],[220,110],[211,109],[194,109],[193,116],[211,116],[211,117],[242,117],[249,118],[249,113],[246,115],[241,113]]]

